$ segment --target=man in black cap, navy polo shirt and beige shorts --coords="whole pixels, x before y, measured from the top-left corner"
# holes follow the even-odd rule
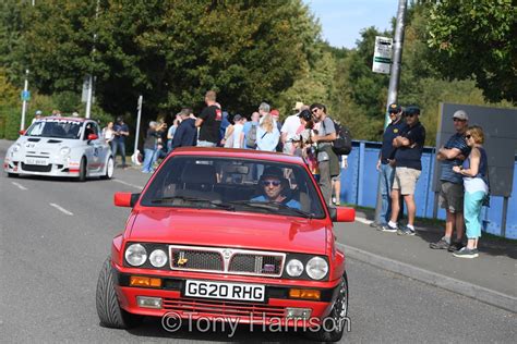
[[[395,179],[392,186],[392,218],[383,226],[383,232],[397,232],[400,235],[414,235],[414,189],[422,172],[422,150],[425,143],[425,128],[419,121],[420,109],[408,107],[404,113],[407,126],[393,139],[395,152]],[[404,197],[408,209],[408,225],[398,228],[400,211],[399,198]]]

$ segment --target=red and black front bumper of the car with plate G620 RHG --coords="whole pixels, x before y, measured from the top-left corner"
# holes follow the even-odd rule
[[[339,286],[339,280],[321,282],[321,287],[314,287],[306,285],[306,281],[299,281],[296,285],[287,286],[272,283],[268,279],[267,282],[264,283],[263,281],[263,283],[261,283],[264,284],[266,288],[264,303],[194,298],[183,295],[187,278],[129,273],[129,271],[121,272],[117,268],[112,269],[120,307],[128,312],[154,317],[164,317],[172,312],[182,319],[192,320],[203,318],[214,320],[226,319],[229,321],[231,319],[232,321],[238,320],[239,323],[281,323],[288,327],[313,327],[318,324],[320,321],[330,312]],[[127,270],[125,268],[122,269]],[[159,288],[129,286],[131,275],[159,278],[163,280],[163,284]],[[228,281],[221,275],[199,280],[235,282]],[[318,290],[321,291],[321,300],[290,298],[289,290],[291,287]],[[137,296],[161,298],[161,308],[151,309],[140,307],[136,300]],[[287,308],[311,309],[310,319],[290,319],[287,317]]]

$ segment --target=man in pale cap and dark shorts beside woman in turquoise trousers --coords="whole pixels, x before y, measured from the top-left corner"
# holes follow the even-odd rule
[[[445,235],[436,243],[429,246],[434,249],[445,249],[449,251],[459,250],[462,247],[464,238],[464,180],[461,174],[455,173],[453,168],[459,167],[470,152],[465,140],[465,132],[469,126],[469,116],[464,110],[458,110],[453,114],[454,128],[456,134],[450,136],[444,147],[440,148],[436,159],[442,161],[440,174],[440,205],[447,213],[445,220]],[[452,243],[454,228],[456,226],[456,243]]]

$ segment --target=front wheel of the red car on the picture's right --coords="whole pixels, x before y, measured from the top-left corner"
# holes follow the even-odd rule
[[[342,275],[339,283],[339,293],[332,306],[330,314],[322,319],[322,327],[317,332],[305,332],[311,339],[317,342],[333,343],[342,337],[345,329],[349,325],[348,318],[348,282]]]

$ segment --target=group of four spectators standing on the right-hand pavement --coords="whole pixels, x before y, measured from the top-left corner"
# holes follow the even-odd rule
[[[388,107],[390,123],[383,135],[377,170],[381,174],[382,208],[372,226],[383,232],[414,235],[414,191],[422,171],[425,128],[419,121],[420,109],[397,103]],[[402,118],[404,116],[404,118]],[[488,158],[480,126],[469,126],[468,114],[453,114],[456,133],[441,147],[436,159],[441,164],[440,205],[446,211],[444,236],[431,243],[432,249],[447,249],[455,257],[479,256],[481,207],[489,199]],[[407,225],[398,223],[400,199],[407,207]],[[464,245],[464,225],[467,245]],[[453,239],[456,230],[456,238]]]

